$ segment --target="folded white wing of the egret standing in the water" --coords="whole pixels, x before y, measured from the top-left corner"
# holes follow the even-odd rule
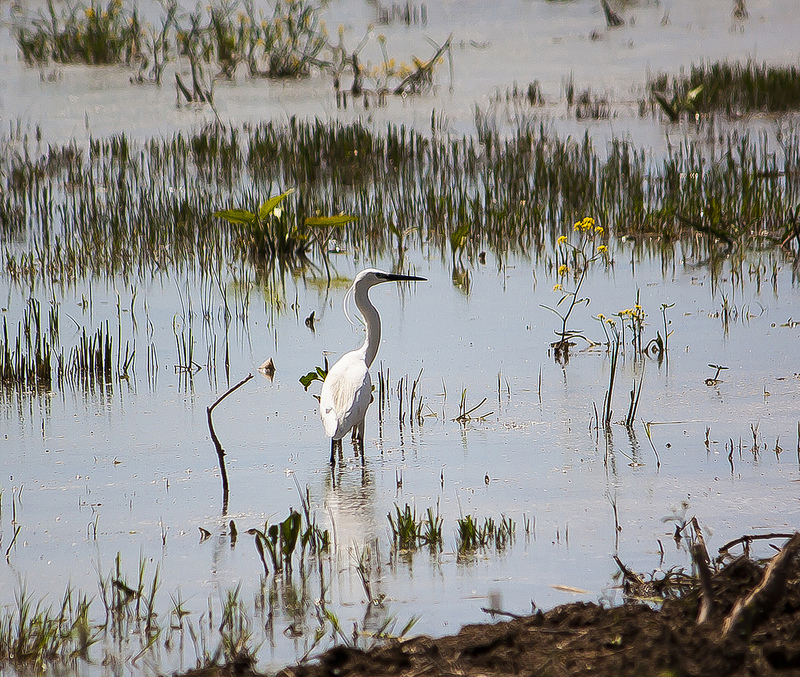
[[[347,353],[331,367],[319,397],[325,434],[340,440],[364,420],[372,399],[372,379],[363,355]]]

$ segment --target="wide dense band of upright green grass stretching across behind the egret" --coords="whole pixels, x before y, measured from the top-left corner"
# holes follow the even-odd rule
[[[0,231],[9,237],[0,263],[31,287],[169,267],[210,274],[230,262],[261,278],[313,274],[333,240],[369,257],[400,256],[397,233],[404,247],[456,264],[485,250],[500,261],[541,257],[580,213],[603,224],[603,245],[684,238],[698,260],[770,246],[796,255],[800,245],[791,127],[778,150],[766,135],[731,132],[712,149],[686,141],[660,158],[622,140],[601,157],[588,136],[564,139],[544,126],[449,138],[296,119],[213,124],[143,145],[121,135],[85,150],[7,141],[14,152],[0,159]],[[224,204],[256,213],[246,205],[262,204],[254,196],[276,184],[302,190],[258,238],[248,224],[220,227],[213,218]],[[325,214],[360,218],[317,225]],[[450,226],[464,223],[468,237]]]

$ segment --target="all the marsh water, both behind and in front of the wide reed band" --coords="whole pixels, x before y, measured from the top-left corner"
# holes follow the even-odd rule
[[[640,3],[625,7],[627,26],[610,31],[599,4],[582,0],[431,5],[424,26],[380,30],[402,54],[428,49],[427,35],[442,42],[453,33],[452,76],[446,68],[437,73],[435,94],[341,111],[321,78],[241,79],[218,86],[217,109],[232,124],[296,114],[420,127],[429,126],[435,109],[461,133],[473,129],[473,104],[491,108],[498,90],[538,79],[547,101],[540,114],[564,135],[629,135],[658,152],[665,138],[694,131],[635,114],[648,71],[724,57],[796,59],[792,3],[748,3],[748,10],[748,20],[737,22],[727,5],[713,2]],[[346,24],[353,42],[373,21],[369,4],[334,2],[325,11],[332,24]],[[10,17],[8,8],[4,13]],[[212,115],[176,107],[166,86],[131,85],[122,69],[26,68],[8,30],[2,49],[3,123],[38,125],[50,143],[121,131],[140,140],[168,137]],[[610,120],[569,119],[560,99],[570,73],[610,96]],[[738,124],[773,126],[765,119]],[[3,246],[21,252],[27,245]],[[360,326],[342,310],[349,281],[364,267],[391,269],[395,259],[351,248],[331,256],[332,282],[320,269],[287,275],[276,286],[243,281],[233,267],[212,276],[182,266],[33,286],[4,274],[0,306],[10,327],[33,297],[58,307],[67,349],[82,328],[108,321],[115,345],[135,345],[136,355],[127,378],[102,386],[4,392],[0,603],[12,608],[26,589],[57,606],[72,586],[95,598],[93,613],[101,617],[98,583],[119,558],[128,581],[144,567],[149,585],[158,570],[162,637],[144,651],[146,641],[131,636],[116,648],[116,661],[81,671],[194,667],[213,651],[211,628],[237,587],[259,666],[276,669],[316,646],[322,597],[348,636],[354,624],[365,631],[390,617],[395,631],[416,617],[413,632],[441,635],[488,620],[482,607],[526,613],[532,604],[618,602],[614,554],[637,571],[688,569],[673,536],[693,515],[712,550],[743,534],[794,530],[796,269],[778,249],[713,263],[700,249],[615,240],[609,264],[592,268],[583,284],[591,302],[571,323],[589,340],[577,342],[567,363],[556,361],[550,346],[559,321],[544,306],[560,294],[549,259],[516,252],[501,260],[489,252],[454,266],[426,247],[406,252],[404,269],[427,281],[372,291],[383,318],[373,374],[375,381],[378,371],[388,375],[388,393],[368,414],[363,458],[346,440],[333,469],[313,397],[319,383],[306,391],[299,379],[325,356],[335,359],[360,343]],[[643,343],[668,334],[668,349],[662,359],[635,354],[626,339],[606,431],[598,411],[610,360],[596,318],[637,304],[646,313]],[[306,322],[312,312],[314,322]],[[189,370],[180,367],[187,335],[196,363]],[[268,358],[272,379],[257,372]],[[225,510],[206,408],[249,373],[255,377],[214,410],[227,452]],[[635,420],[623,425],[639,383]],[[412,386],[419,416],[409,413]],[[472,413],[457,420],[465,409]],[[306,489],[333,540],[322,573],[265,582],[247,530],[300,510]],[[387,515],[405,504],[419,513],[438,506],[440,550],[393,551]],[[456,524],[467,514],[513,519],[513,542],[460,552]],[[357,572],[365,549],[375,603]],[[194,634],[178,629],[179,603]],[[318,648],[331,641],[326,632]]]

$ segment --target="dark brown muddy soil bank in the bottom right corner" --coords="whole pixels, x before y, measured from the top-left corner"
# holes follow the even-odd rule
[[[278,677],[800,675],[799,551],[795,535],[783,562],[780,554],[769,562],[741,556],[707,569],[705,589],[713,593],[705,596],[700,578],[683,579],[680,594],[657,606],[581,602],[369,652],[339,646]],[[670,593],[663,581],[656,591],[649,577],[628,574],[630,593]],[[244,664],[215,677],[221,674],[254,673]]]

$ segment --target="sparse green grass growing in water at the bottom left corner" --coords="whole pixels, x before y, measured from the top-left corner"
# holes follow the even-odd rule
[[[253,631],[258,609],[245,605],[238,586],[223,591],[217,609],[209,598],[199,615],[186,607],[178,590],[162,616],[158,566],[150,573],[142,559],[131,579],[117,555],[111,571],[99,574],[98,588],[99,596],[90,598],[68,586],[60,604],[52,606],[34,601],[22,586],[14,604],[0,611],[0,668],[80,672],[98,661],[98,652],[104,664],[136,666],[145,655],[158,663],[165,654],[179,654],[182,663],[187,635],[197,668],[255,662],[262,643]]]

